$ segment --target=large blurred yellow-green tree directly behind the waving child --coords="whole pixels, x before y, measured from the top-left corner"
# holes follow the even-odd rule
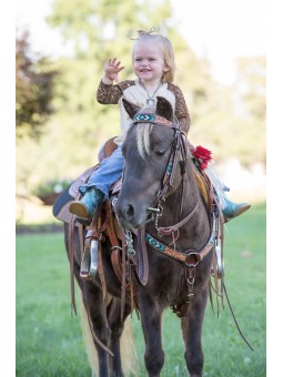
[[[57,145],[60,151],[53,152],[61,153],[61,164],[68,165],[72,174],[95,163],[100,145],[120,132],[118,105],[99,104],[95,92],[110,57],[117,57],[125,67],[120,80],[134,79],[131,52],[139,29],[154,27],[172,41],[178,64],[175,83],[183,90],[190,110],[195,108],[194,102],[208,100],[208,61],[199,59],[176,32],[169,0],[55,0],[48,21],[71,47],[70,57],[58,61],[62,75],[57,81],[57,125],[50,124],[50,131],[54,128],[50,137],[61,134],[64,146]],[[69,163],[64,163],[67,159]]]

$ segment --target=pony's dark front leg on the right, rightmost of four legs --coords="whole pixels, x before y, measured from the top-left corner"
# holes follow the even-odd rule
[[[190,304],[189,316],[182,318],[182,332],[185,345],[185,361],[191,377],[201,377],[203,369],[203,351],[202,351],[202,324],[204,310],[206,306],[208,291],[202,291],[194,296],[194,300]]]

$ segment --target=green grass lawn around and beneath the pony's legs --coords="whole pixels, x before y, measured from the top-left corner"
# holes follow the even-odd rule
[[[208,305],[203,350],[204,376],[266,375],[265,353],[265,204],[228,224],[225,231],[225,284],[241,329],[230,309],[218,318]],[[80,318],[71,315],[69,263],[62,233],[17,236],[17,376],[90,376]],[[78,297],[78,295],[77,295]],[[144,344],[141,325],[133,317],[140,363]],[[188,376],[180,322],[170,310],[163,318],[166,355],[162,377]]]

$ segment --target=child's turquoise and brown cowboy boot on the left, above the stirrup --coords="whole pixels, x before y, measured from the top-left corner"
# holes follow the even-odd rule
[[[95,187],[89,188],[80,201],[74,201],[70,204],[69,211],[77,215],[79,222],[84,225],[91,223],[99,204],[103,201],[104,194]]]

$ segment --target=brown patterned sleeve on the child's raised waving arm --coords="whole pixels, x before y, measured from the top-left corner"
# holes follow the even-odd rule
[[[101,80],[97,92],[97,100],[101,104],[117,104],[123,95],[123,91],[133,84],[134,81],[127,80],[114,85],[108,85]]]

